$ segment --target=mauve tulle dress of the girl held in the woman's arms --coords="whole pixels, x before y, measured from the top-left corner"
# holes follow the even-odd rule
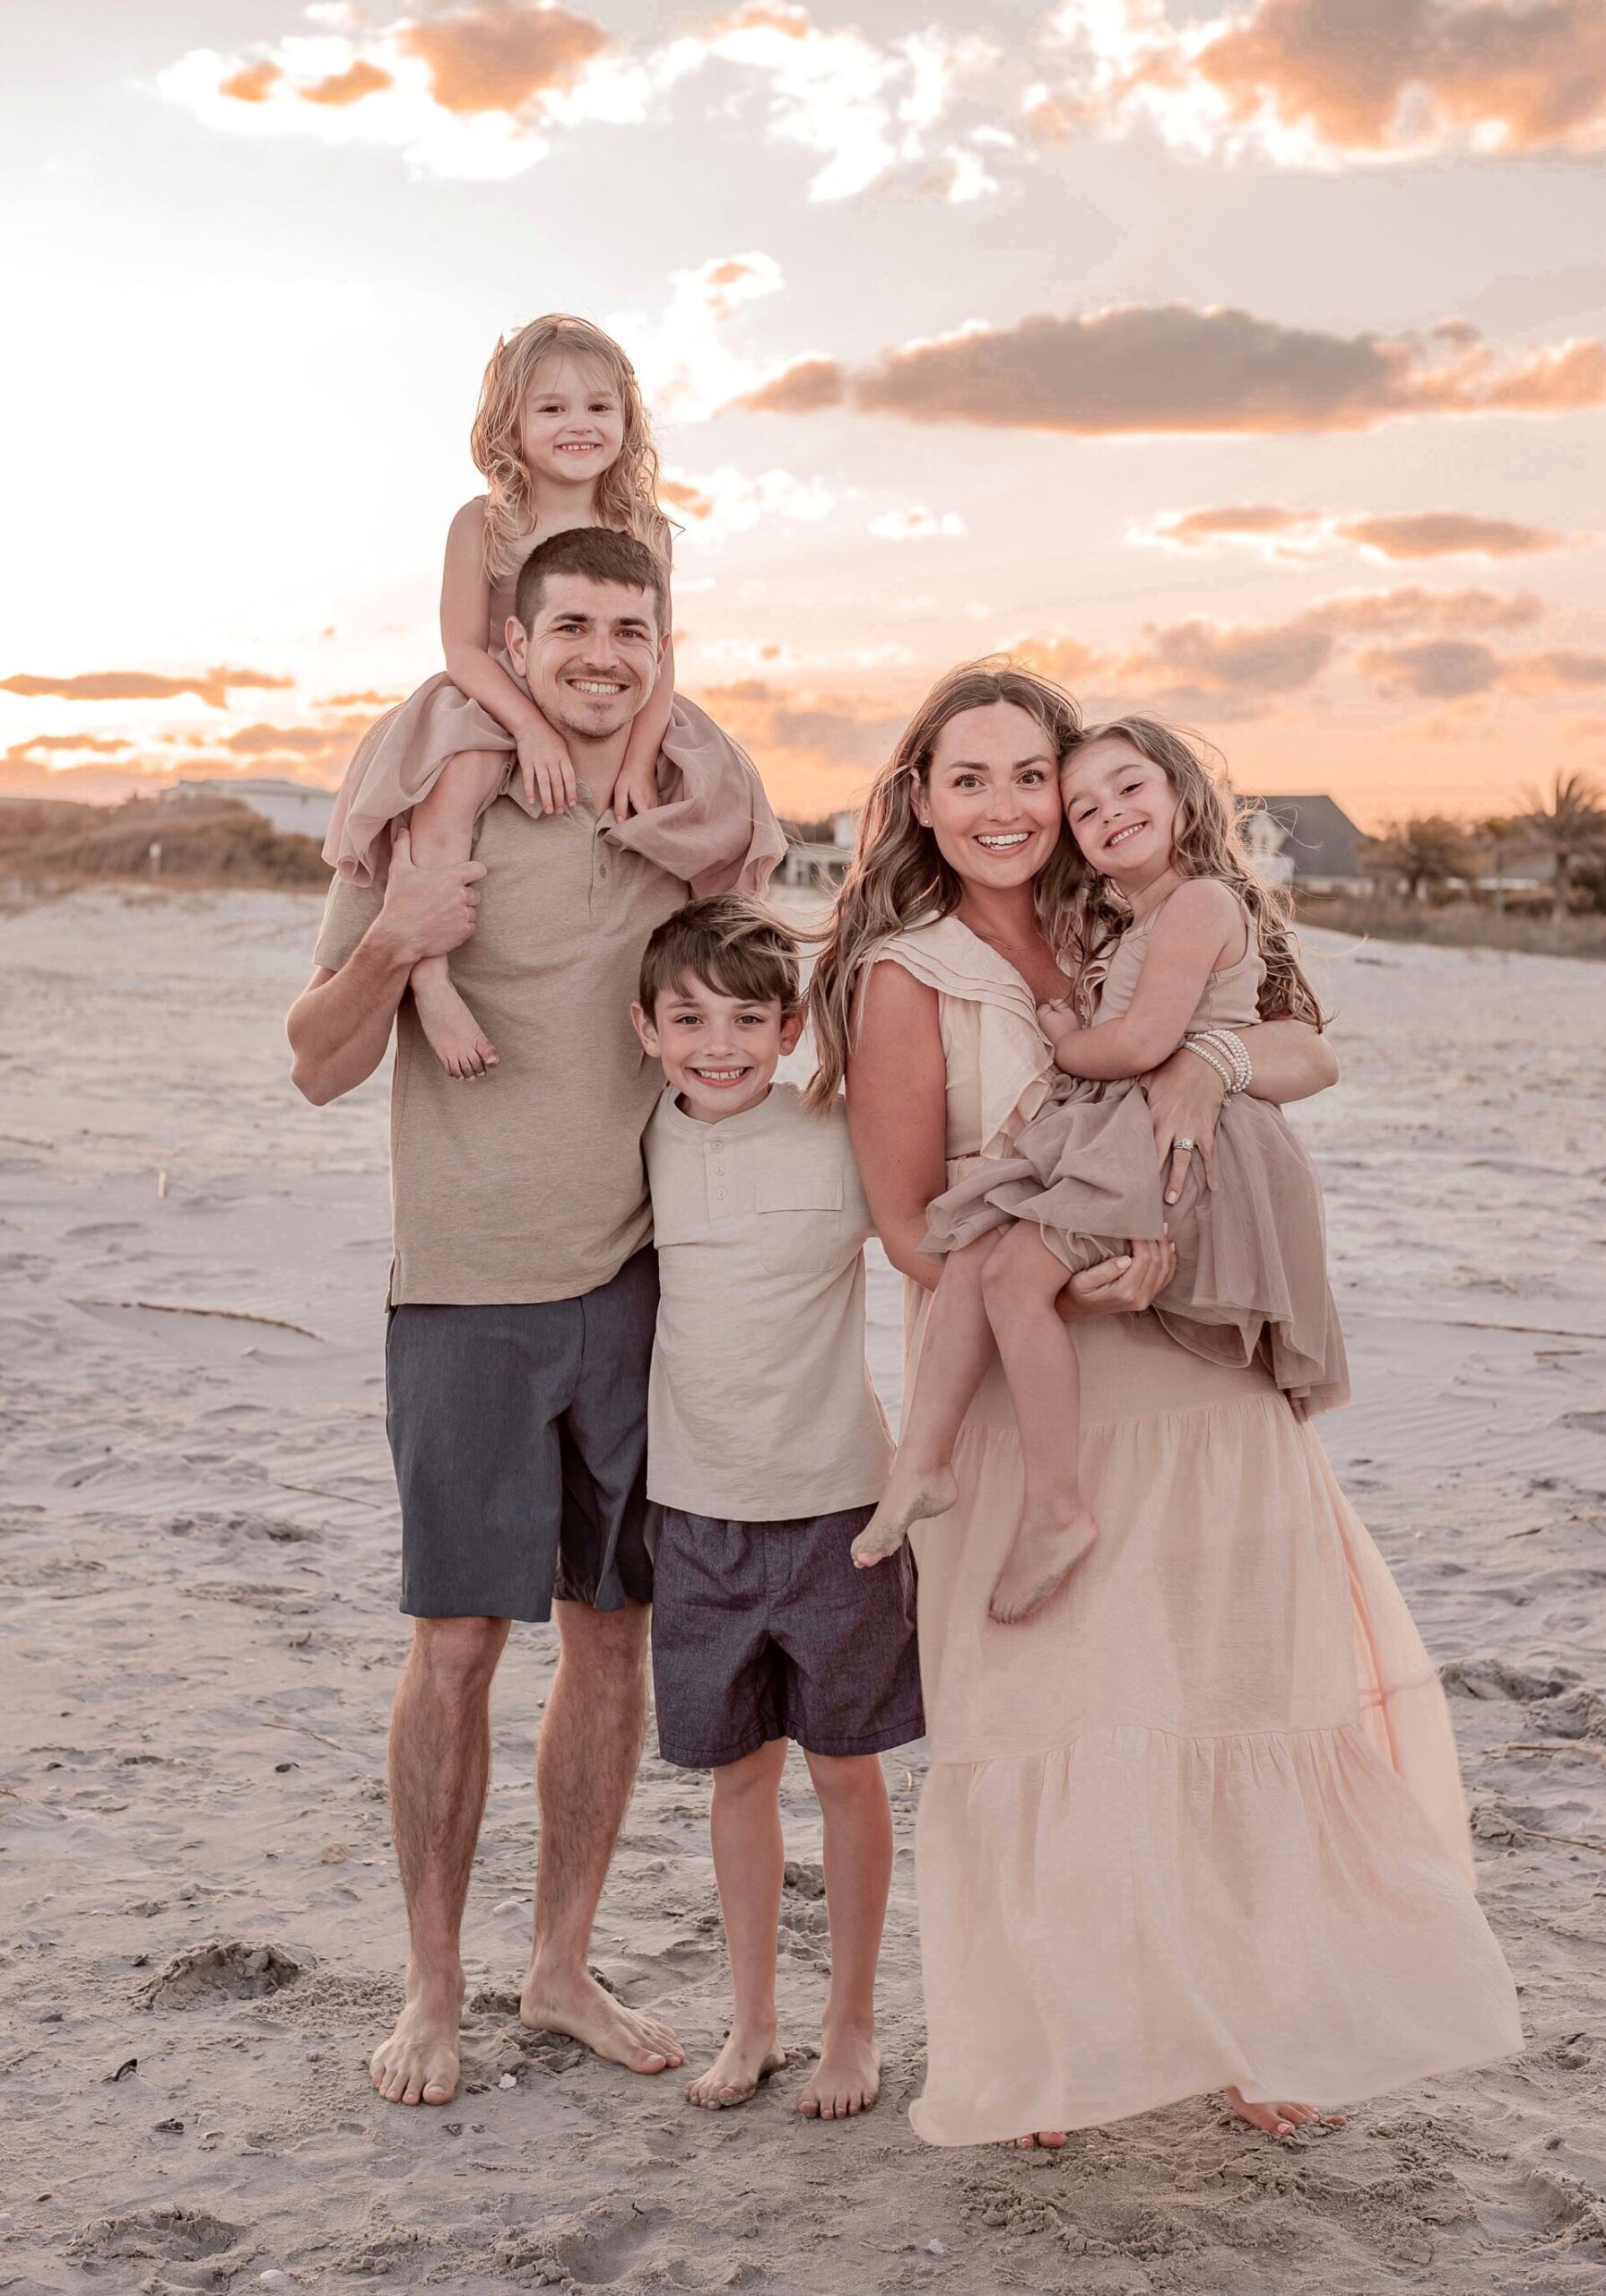
[[[1163,909],[1165,902],[1120,937],[1094,1019],[1129,1010]],[[1253,923],[1246,925],[1246,953],[1209,976],[1188,1031],[1250,1029],[1260,1019],[1266,967]],[[1009,1219],[1032,1219],[1071,1272],[1168,1226],[1177,1274],[1154,1313],[1172,1339],[1218,1364],[1250,1364],[1264,1350],[1278,1387],[1312,1412],[1349,1401],[1344,1334],[1326,1279],[1322,1182],[1271,1102],[1248,1093],[1227,1100],[1216,1130],[1214,1189],[1191,1157],[1182,1196],[1168,1205],[1136,1084],[1058,1075],[1009,1153],[936,1199],[922,1251],[957,1251]]]

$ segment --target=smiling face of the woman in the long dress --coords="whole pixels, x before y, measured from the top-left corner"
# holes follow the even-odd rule
[[[915,815],[966,884],[1030,884],[1060,843],[1060,760],[1016,703],[961,709],[936,737]]]

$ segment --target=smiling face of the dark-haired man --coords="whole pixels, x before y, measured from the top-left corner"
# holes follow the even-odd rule
[[[658,677],[658,602],[652,590],[551,574],[530,629],[507,625],[507,650],[548,726],[608,742],[647,705]]]

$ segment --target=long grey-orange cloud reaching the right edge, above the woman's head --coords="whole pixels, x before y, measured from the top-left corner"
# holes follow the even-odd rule
[[[966,326],[860,372],[796,360],[739,404],[1081,436],[1363,432],[1404,416],[1601,406],[1606,342],[1500,354],[1459,319],[1429,335],[1331,335],[1244,310],[1124,303]]]

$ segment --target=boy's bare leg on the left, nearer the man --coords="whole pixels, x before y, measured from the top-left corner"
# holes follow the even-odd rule
[[[686,2103],[723,2112],[746,2105],[787,2062],[775,2034],[775,1938],[780,1931],[780,1773],[787,1740],[771,1738],[714,1773],[714,1878],[725,1915],[732,2018],[707,2073],[686,2082]]]

